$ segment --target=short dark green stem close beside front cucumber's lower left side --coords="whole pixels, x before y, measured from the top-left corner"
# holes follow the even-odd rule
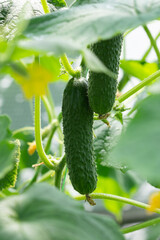
[[[64,155],[55,171],[55,186],[58,189],[61,189],[61,177],[62,177],[62,171],[64,169],[65,163],[66,163],[66,157]]]

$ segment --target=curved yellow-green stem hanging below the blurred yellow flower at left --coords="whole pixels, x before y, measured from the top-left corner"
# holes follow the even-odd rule
[[[55,170],[55,163],[51,162],[47,155],[44,152],[42,146],[42,139],[41,139],[41,98],[36,96],[35,97],[35,140],[36,140],[36,147],[39,157],[44,162],[44,164],[49,168]]]

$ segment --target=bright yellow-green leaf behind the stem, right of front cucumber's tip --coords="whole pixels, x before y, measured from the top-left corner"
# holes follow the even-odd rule
[[[125,193],[118,182],[113,178],[99,177],[96,193],[109,193],[122,197],[129,197],[129,194]],[[118,219],[121,218],[121,209],[124,206],[123,203],[119,201],[104,200],[104,204],[106,209],[114,213]]]

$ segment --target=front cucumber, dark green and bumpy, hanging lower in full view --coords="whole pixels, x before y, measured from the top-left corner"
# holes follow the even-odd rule
[[[97,184],[93,159],[93,111],[87,97],[87,82],[71,79],[63,95],[63,133],[69,176],[76,191],[93,192]]]

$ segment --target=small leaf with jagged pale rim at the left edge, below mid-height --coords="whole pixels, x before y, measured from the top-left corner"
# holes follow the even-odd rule
[[[20,142],[17,140],[11,143],[1,142],[0,143],[0,154],[1,155],[1,167],[4,166],[2,161],[5,161],[6,169],[4,175],[3,172],[0,172],[0,190],[6,189],[9,187],[14,187],[17,180],[17,171],[20,160]],[[2,148],[3,147],[3,151]],[[7,153],[6,153],[7,151]]]

